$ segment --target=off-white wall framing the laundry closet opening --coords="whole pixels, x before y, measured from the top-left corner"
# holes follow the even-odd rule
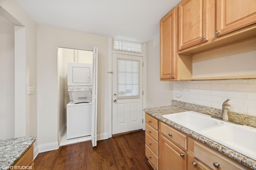
[[[39,151],[58,148],[58,47],[98,47],[98,134],[108,133],[108,37],[38,25]]]

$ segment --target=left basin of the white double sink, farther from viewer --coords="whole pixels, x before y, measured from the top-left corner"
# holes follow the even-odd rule
[[[204,115],[195,111],[173,113],[169,115],[163,115],[163,117],[193,131],[205,129],[207,127],[212,127],[219,124],[219,121],[212,119],[211,116]]]

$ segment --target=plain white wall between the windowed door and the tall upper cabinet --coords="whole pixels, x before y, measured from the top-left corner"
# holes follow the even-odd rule
[[[172,100],[172,83],[160,81],[160,36],[147,43],[146,107],[169,106]]]

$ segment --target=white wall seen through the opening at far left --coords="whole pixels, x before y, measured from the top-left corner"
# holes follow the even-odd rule
[[[14,24],[0,15],[0,139],[14,138]]]

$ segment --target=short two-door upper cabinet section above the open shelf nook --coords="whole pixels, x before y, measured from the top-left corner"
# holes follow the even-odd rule
[[[256,0],[182,0],[178,54],[194,55],[256,36]]]

